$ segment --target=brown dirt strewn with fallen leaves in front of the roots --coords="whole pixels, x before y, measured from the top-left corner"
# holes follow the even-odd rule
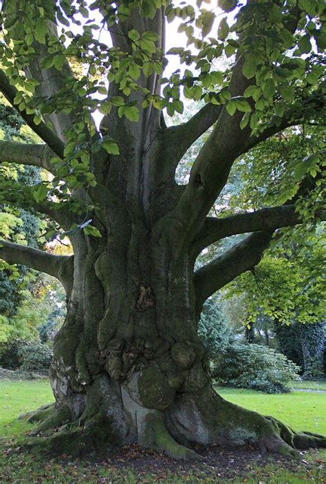
[[[61,459],[49,459],[45,468],[49,467],[50,470],[52,465],[61,465],[65,469],[65,473],[67,473],[69,468],[68,474],[72,473],[74,475],[74,472],[83,467],[85,469],[85,478],[98,478],[98,483],[110,482],[112,484],[122,482],[119,481],[119,472],[123,473],[126,470],[135,472],[138,478],[135,481],[137,484],[153,481],[160,482],[171,476],[183,478],[186,481],[189,480],[189,482],[200,482],[206,478],[216,480],[216,482],[243,478],[243,482],[247,482],[250,478],[257,477],[258,468],[259,482],[265,484],[268,483],[268,478],[270,477],[271,469],[268,467],[270,465],[272,465],[272,472],[287,470],[296,474],[298,470],[301,470],[307,476],[305,481],[309,481],[310,472],[316,469],[316,467],[320,471],[320,476],[324,475],[326,477],[326,462],[319,458],[318,451],[309,450],[309,456],[312,456],[312,459],[310,458],[310,461],[307,461],[306,459],[309,459],[307,451],[300,452],[299,460],[293,460],[283,456],[262,454],[254,450],[228,451],[217,445],[209,448],[196,445],[193,447],[193,450],[204,456],[204,462],[175,461],[175,459],[169,456],[159,454],[150,449],[144,449],[139,445],[130,445],[122,448],[118,454],[111,454],[100,460],[96,459],[96,456],[94,456],[94,459],[72,460],[65,455]],[[14,449],[12,449],[12,452],[14,452]],[[264,470],[264,467],[266,467],[266,470]],[[101,470],[103,469],[113,473],[113,480],[110,477],[109,481],[107,481],[107,478],[102,476]],[[191,481],[192,478],[196,478],[196,481]],[[263,481],[261,481],[261,478],[263,478]],[[313,476],[311,478],[312,481],[316,482]],[[79,478],[76,479],[76,483],[78,482],[81,482]],[[320,483],[323,482],[325,481],[321,478]]]

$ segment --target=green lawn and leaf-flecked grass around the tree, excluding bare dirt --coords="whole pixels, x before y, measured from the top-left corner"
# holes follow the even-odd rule
[[[326,433],[325,394],[292,392],[285,395],[266,395],[253,390],[218,388],[219,393],[233,403],[271,414],[295,429]],[[43,456],[22,452],[19,446],[25,433],[31,429],[26,421],[18,421],[22,412],[34,410],[52,401],[52,391],[46,380],[40,381],[0,381],[0,483],[1,484],[65,484],[65,483],[111,483],[111,484],[301,484],[325,483],[322,461],[326,451],[308,452],[303,463],[292,465],[292,470],[283,468],[274,459],[268,465],[248,463],[246,474],[234,478],[223,478],[211,472],[198,469],[187,471],[139,472],[131,466],[119,468],[110,464],[95,462],[70,462],[69,459],[45,459]],[[324,414],[325,417],[325,414]],[[325,418],[324,418],[325,420]],[[232,467],[232,464],[230,464]],[[155,468],[155,465],[154,465]],[[28,469],[28,475],[26,474]],[[209,470],[210,471],[210,470]],[[208,475],[209,474],[209,475]]]

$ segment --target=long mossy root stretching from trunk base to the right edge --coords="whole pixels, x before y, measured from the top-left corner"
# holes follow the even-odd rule
[[[249,446],[290,457],[298,456],[297,449],[326,447],[324,436],[296,432],[274,417],[234,405],[210,389],[193,397],[180,394],[167,421],[175,439],[188,443]]]

